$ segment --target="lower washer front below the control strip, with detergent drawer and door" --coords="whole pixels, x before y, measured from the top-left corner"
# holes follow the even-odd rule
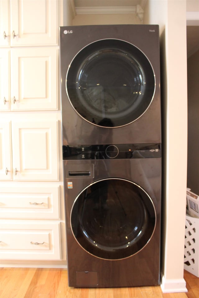
[[[98,283],[89,285],[92,287],[159,284],[161,158],[64,160],[63,168],[69,285],[80,286],[77,272],[95,272]],[[135,229],[129,198],[137,210],[132,219]],[[123,209],[130,220],[125,221]],[[143,237],[139,238],[135,230],[142,231]],[[126,237],[130,241],[125,243]],[[112,243],[110,251],[105,239],[109,246]],[[97,246],[95,249],[94,241],[105,246],[101,247],[103,252]]]

